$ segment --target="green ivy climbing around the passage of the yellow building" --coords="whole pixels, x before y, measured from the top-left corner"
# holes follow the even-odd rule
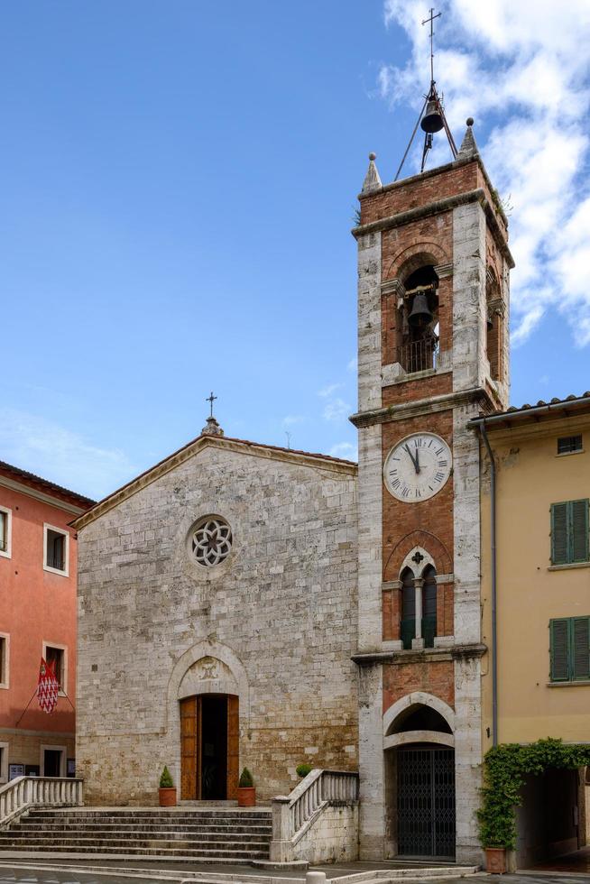
[[[528,746],[502,743],[485,753],[483,804],[478,811],[479,833],[484,847],[516,847],[516,813],[527,774],[539,775],[548,768],[576,770],[590,765],[590,746],[564,746],[548,737]]]

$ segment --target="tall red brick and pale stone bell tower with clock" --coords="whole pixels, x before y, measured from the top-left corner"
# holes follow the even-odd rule
[[[513,261],[472,126],[453,161],[392,184],[371,154],[353,230],[364,859],[481,855],[475,813],[491,723],[481,703],[479,441],[467,422],[508,404]]]

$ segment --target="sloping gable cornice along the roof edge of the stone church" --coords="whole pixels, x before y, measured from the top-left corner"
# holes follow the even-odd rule
[[[329,456],[312,455],[307,452],[294,451],[289,448],[279,448],[256,444],[255,442],[246,442],[242,439],[231,439],[225,436],[199,436],[189,445],[180,448],[169,457],[166,457],[159,464],[152,466],[145,473],[138,475],[132,482],[127,483],[118,491],[109,494],[104,500],[99,501],[88,512],[85,512],[78,519],[70,524],[73,528],[80,530],[86,528],[90,522],[99,519],[109,510],[113,510],[119,503],[126,501],[135,493],[142,491],[147,485],[156,482],[162,475],[170,473],[180,464],[189,460],[190,457],[197,455],[204,448],[221,448],[225,451],[233,451],[240,455],[250,455],[254,457],[263,457],[266,460],[279,460],[285,464],[294,464],[298,466],[307,466],[315,470],[327,471],[330,473],[346,473],[355,476],[357,473],[357,465],[344,460],[338,460]]]

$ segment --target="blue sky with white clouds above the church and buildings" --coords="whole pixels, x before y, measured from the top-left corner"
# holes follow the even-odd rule
[[[355,456],[349,231],[368,152],[392,180],[428,87],[426,6],[0,7],[0,459],[103,496],[197,436],[210,390],[226,435]],[[587,69],[562,63],[584,6],[575,34],[541,3],[546,30],[517,18],[505,46],[504,0],[442,6],[456,140],[473,114],[512,195],[517,404],[590,387]]]

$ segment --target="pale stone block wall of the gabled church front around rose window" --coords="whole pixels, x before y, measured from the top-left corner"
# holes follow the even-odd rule
[[[234,693],[258,797],[296,766],[357,769],[355,466],[202,439],[79,530],[77,772],[89,804],[180,786],[179,699]],[[149,477],[148,477],[149,478]],[[233,548],[189,555],[207,514]]]

